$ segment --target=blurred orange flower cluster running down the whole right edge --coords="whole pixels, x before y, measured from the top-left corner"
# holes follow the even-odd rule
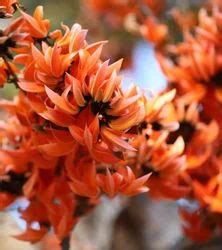
[[[182,206],[180,214],[185,234],[196,241],[221,227],[221,18],[219,4],[200,9],[197,26],[184,28],[180,43],[158,52],[169,86],[177,89],[176,134],[185,135],[183,181],[191,188],[186,198],[198,202],[195,209]]]

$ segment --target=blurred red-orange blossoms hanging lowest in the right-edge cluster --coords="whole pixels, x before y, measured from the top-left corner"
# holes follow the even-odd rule
[[[194,211],[186,207],[180,209],[184,233],[194,241],[207,241],[215,232],[220,232],[222,226],[220,157],[214,157],[211,165],[208,163],[207,167],[197,169],[190,177],[192,199],[197,200],[199,205]]]

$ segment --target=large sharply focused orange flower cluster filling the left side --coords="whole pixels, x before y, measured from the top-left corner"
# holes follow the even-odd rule
[[[12,101],[0,101],[0,208],[25,197],[27,228],[16,237],[37,242],[53,232],[61,242],[101,195],[149,190],[152,171],[135,163],[140,137],[152,137],[150,156],[175,157],[159,168],[153,158],[161,178],[182,169],[182,138],[162,148],[166,134],[155,132],[175,91],[150,99],[136,86],[124,91],[122,60],[101,58],[106,42],[88,43],[79,24],[50,32],[41,6],[33,16],[18,12],[0,40],[1,86],[18,88]]]

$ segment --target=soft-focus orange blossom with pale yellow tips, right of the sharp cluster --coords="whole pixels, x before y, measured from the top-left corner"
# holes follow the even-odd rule
[[[179,175],[186,168],[182,137],[173,144],[167,144],[168,132],[143,130],[133,141],[136,152],[128,154],[127,164],[139,175],[152,173],[146,185],[154,198],[178,199],[190,188],[179,183]]]

